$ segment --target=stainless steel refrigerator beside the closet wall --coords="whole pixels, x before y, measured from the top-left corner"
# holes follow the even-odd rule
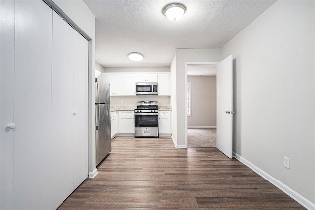
[[[95,78],[96,165],[112,150],[110,133],[110,78]]]

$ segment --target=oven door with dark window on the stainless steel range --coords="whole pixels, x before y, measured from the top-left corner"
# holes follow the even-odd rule
[[[158,113],[135,113],[134,119],[135,129],[147,128],[146,130],[150,130],[150,128],[158,128]]]

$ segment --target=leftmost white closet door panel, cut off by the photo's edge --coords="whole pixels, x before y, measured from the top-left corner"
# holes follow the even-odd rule
[[[14,16],[15,2],[0,0],[0,209],[14,207]]]

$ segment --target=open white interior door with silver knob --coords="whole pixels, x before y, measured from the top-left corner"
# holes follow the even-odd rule
[[[217,64],[217,148],[232,159],[233,57]]]

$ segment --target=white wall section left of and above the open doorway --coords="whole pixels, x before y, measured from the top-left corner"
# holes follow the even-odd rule
[[[219,62],[221,58],[221,49],[177,49],[176,50],[176,123],[177,123],[177,145],[185,146],[185,136],[187,134],[187,125],[185,119],[186,99],[185,91],[187,75],[185,73],[185,62]],[[173,60],[174,61],[174,60]],[[172,64],[173,64],[172,61]],[[173,77],[173,75],[172,75]],[[173,109],[174,106],[172,106]],[[172,112],[173,113],[173,112]],[[172,116],[173,117],[173,116]],[[173,119],[173,118],[172,118]],[[173,119],[175,120],[175,119]]]

